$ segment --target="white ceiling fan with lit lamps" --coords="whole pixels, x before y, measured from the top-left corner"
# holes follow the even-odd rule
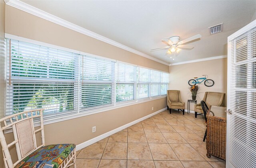
[[[189,37],[185,40],[180,41],[180,37],[179,36],[173,36],[173,37],[165,37],[162,38],[162,42],[165,43],[166,47],[160,47],[160,48],[156,48],[156,49],[151,49],[150,51],[157,51],[157,50],[162,50],[162,49],[168,49],[168,51],[166,53],[168,54],[172,54],[176,51],[176,53],[179,53],[181,51],[180,48],[184,48],[184,49],[192,49],[194,48],[194,45],[184,45],[185,43],[188,43],[192,40],[198,39],[202,37],[200,34],[194,35],[192,37]]]

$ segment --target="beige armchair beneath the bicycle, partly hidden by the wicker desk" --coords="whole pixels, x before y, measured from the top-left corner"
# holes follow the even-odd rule
[[[225,96],[226,96],[225,93],[205,92],[203,100],[204,100],[204,102],[206,102],[208,107],[210,107],[211,105],[224,106]],[[195,111],[195,117],[197,117],[197,115],[204,113],[200,103],[195,104],[194,111]],[[200,113],[200,114],[198,114],[198,113]]]

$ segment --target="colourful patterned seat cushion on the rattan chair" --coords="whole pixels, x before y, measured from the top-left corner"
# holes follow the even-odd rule
[[[76,148],[75,144],[47,145],[35,150],[15,168],[58,168]]]

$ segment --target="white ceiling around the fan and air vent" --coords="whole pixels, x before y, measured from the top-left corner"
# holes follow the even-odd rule
[[[38,9],[79,25],[118,43],[165,61],[178,63],[227,54],[227,37],[244,27],[256,12],[256,1],[76,1],[22,0]],[[223,24],[210,35],[208,27]],[[201,34],[194,49],[166,56],[163,37],[180,40]],[[99,46],[100,49],[100,46]],[[170,55],[169,55],[170,56]]]

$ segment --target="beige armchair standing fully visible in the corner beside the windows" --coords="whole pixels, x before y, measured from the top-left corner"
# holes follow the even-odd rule
[[[180,90],[167,90],[167,109],[170,113],[172,109],[182,110],[184,115],[185,103],[181,100]]]

